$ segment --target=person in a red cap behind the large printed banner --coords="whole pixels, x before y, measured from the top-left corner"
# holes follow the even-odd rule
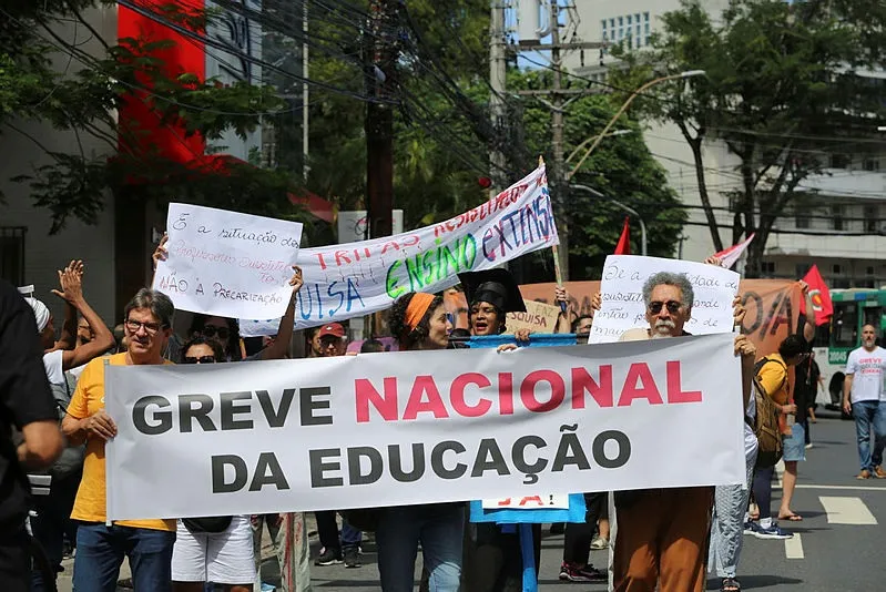
[[[339,323],[329,323],[322,326],[317,331],[322,357],[344,356],[347,351],[345,335],[345,327]],[[352,527],[347,520],[343,520],[339,539],[335,510],[314,512],[314,518],[317,520],[317,535],[319,537],[320,545],[323,545],[320,554],[314,561],[314,564],[334,565],[344,561],[346,568],[359,568],[361,565],[359,545],[363,540],[360,531]]]

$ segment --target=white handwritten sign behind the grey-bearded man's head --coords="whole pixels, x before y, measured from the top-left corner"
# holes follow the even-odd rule
[[[681,259],[610,255],[603,265],[600,286],[603,305],[593,317],[589,343],[618,341],[628,329],[648,328],[643,284],[662,271],[685,274],[692,284],[695,299],[692,317],[684,327],[686,331],[693,335],[732,331],[732,300],[739,292],[740,280],[735,272]]]

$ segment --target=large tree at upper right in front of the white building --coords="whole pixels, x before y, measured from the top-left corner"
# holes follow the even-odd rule
[[[652,49],[617,48],[629,69],[612,82],[634,89],[660,73],[704,70],[684,84],[656,86],[634,108],[674,123],[692,150],[699,197],[714,247],[725,246],[714,217],[703,147],[724,142],[737,159],[732,243],[756,233],[745,273],[756,277],[775,221],[823,174],[827,153],[868,135],[883,84],[857,74],[884,65],[886,7],[879,0],[733,0],[714,21],[682,0],[663,17]],[[817,152],[817,154],[816,154]]]

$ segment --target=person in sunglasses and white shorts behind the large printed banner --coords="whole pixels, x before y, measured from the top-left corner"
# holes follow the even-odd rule
[[[225,354],[216,341],[197,336],[184,344],[183,364],[217,364]],[[203,592],[206,582],[226,592],[249,592],[255,579],[248,516],[185,518],[177,521],[172,550],[174,592]]]

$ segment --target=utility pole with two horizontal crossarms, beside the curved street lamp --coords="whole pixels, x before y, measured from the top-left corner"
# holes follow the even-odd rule
[[[557,249],[557,258],[561,277],[558,279],[566,282],[569,279],[569,216],[566,214],[569,185],[566,183],[563,171],[566,166],[566,160],[563,157],[563,115],[566,114],[567,106],[569,106],[572,101],[588,94],[595,94],[600,91],[589,89],[563,89],[562,54],[564,51],[577,49],[600,49],[604,44],[587,41],[570,41],[563,43],[560,39],[560,8],[558,0],[551,0],[551,42],[532,43],[521,39],[518,51],[550,50],[551,52],[551,69],[553,70],[551,88],[547,90],[519,91],[519,94],[534,98],[551,111],[551,150],[553,151],[553,161],[551,166],[548,167],[548,186],[551,192],[551,203],[554,210],[554,220],[557,221],[557,232],[560,236],[560,247]],[[550,100],[546,100],[544,96],[550,96]],[[569,99],[567,99],[567,96],[569,96]]]

